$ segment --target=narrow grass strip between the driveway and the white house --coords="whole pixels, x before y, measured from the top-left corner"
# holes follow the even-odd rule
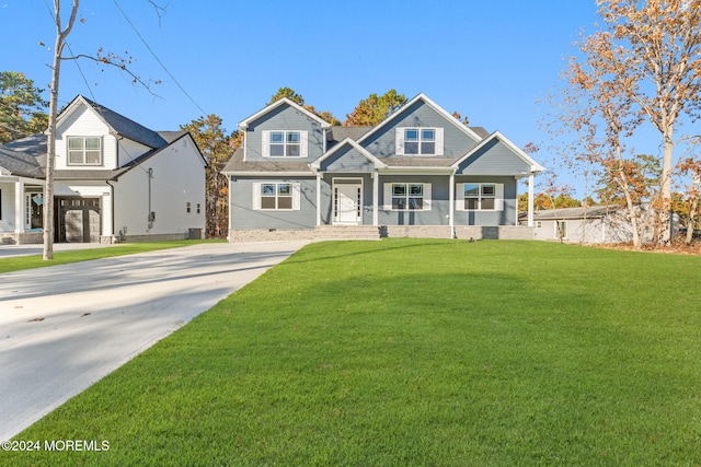
[[[221,241],[206,241],[221,242]],[[203,243],[200,240],[181,240],[168,242],[126,243],[110,247],[95,247],[93,249],[74,249],[70,252],[54,252],[54,259],[44,260],[42,255],[14,256],[0,258],[0,273],[19,271],[23,269],[42,268],[45,266],[65,265],[67,262],[88,261],[90,259],[110,258],[113,256],[133,255],[135,253],[154,252],[157,249],[179,248]]]

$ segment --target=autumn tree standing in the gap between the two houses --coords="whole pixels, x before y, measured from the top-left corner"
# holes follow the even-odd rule
[[[211,238],[226,237],[229,214],[228,183],[221,171],[241,144],[241,138],[238,132],[227,133],[227,130],[221,126],[221,118],[214,114],[199,117],[180,128],[193,136],[209,164],[206,171],[206,236]]]

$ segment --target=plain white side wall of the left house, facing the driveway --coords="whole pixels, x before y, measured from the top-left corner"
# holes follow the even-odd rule
[[[150,211],[156,213],[151,226],[149,168],[153,174],[150,180]],[[189,229],[204,231],[205,162],[189,137],[174,141],[111,183],[115,192],[115,234],[125,226],[127,235],[187,234]]]

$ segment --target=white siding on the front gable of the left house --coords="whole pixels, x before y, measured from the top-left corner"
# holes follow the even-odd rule
[[[68,165],[68,137],[100,137],[102,139],[102,165]],[[110,127],[92,109],[80,105],[56,132],[56,170],[117,168],[117,142],[110,135]]]

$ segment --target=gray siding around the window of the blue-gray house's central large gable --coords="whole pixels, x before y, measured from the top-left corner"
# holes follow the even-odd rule
[[[438,114],[423,101],[417,101],[412,106],[400,110],[392,125],[372,135],[363,142],[363,147],[377,157],[394,156],[394,129],[398,127],[444,128],[444,155],[436,157],[460,157],[476,145],[476,142],[457,128],[453,122],[447,120],[445,116]]]

